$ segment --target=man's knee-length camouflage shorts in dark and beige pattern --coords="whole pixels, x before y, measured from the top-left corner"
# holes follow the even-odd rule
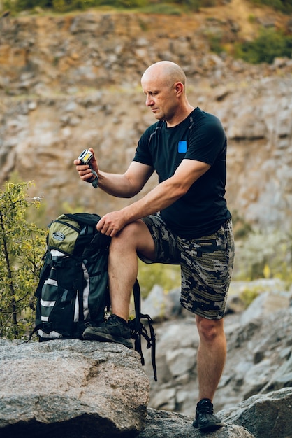
[[[182,306],[207,319],[224,317],[234,261],[231,219],[217,232],[200,239],[183,239],[173,234],[159,215],[143,218],[154,239],[156,260],[146,263],[180,264]]]

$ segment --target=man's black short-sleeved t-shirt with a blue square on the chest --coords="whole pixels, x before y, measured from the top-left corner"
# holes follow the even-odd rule
[[[161,211],[168,227],[185,239],[217,231],[231,218],[226,206],[226,134],[220,120],[195,108],[179,125],[156,122],[141,136],[134,161],[152,166],[159,183],[173,176],[184,158],[210,164],[186,195]]]

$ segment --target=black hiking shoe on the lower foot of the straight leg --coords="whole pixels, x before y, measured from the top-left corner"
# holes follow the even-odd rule
[[[208,398],[203,398],[196,407],[196,417],[193,421],[194,428],[208,432],[224,426],[220,418],[214,415],[213,404]]]

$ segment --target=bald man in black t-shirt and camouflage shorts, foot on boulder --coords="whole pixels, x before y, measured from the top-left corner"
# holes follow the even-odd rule
[[[140,137],[129,168],[124,174],[109,174],[99,169],[95,155],[91,165],[98,187],[115,197],[137,195],[154,171],[159,183],[98,222],[98,231],[112,238],[112,314],[101,327],[88,327],[83,337],[133,348],[127,321],[138,257],[145,263],[180,264],[180,302],[194,313],[200,336],[193,425],[216,430],[224,425],[214,415],[212,400],[226,360],[224,309],[234,258],[231,213],[224,197],[226,134],[217,117],[189,104],[186,76],[177,64],[152,64],[141,85],[156,122]],[[83,181],[93,181],[88,165],[79,160],[74,164]]]

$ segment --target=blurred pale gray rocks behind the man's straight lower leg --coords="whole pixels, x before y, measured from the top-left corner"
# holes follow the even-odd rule
[[[243,292],[253,288],[258,296],[246,306]],[[147,351],[145,361],[150,406],[191,416],[198,397],[199,338],[194,317],[182,309],[179,295],[178,289],[166,292],[156,285],[144,300],[142,311],[152,316],[156,327],[157,382]],[[228,353],[214,397],[217,410],[232,408],[252,395],[292,387],[291,300],[292,288],[286,290],[277,279],[231,285],[224,318]]]

